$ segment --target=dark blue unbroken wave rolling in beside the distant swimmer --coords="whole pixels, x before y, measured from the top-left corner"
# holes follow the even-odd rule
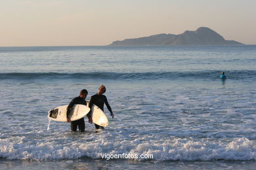
[[[115,73],[115,72],[91,72],[91,73],[0,73],[0,79],[110,79],[110,80],[158,80],[177,78],[219,78],[220,71],[179,71],[179,72],[146,72],[146,73]],[[228,71],[228,79],[255,78],[256,71],[238,70]]]

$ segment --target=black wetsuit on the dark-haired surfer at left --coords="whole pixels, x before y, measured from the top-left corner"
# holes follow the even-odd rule
[[[70,114],[70,109],[74,105],[87,105],[87,103],[82,97],[79,97],[79,96],[72,99],[72,101],[70,101],[70,105],[68,105],[67,118]],[[71,131],[76,131],[78,126],[79,131],[83,132],[85,131],[85,120],[83,118],[80,118],[79,120],[71,121],[70,126],[71,126]]]

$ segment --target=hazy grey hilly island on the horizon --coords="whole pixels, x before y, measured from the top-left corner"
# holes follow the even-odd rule
[[[241,42],[225,40],[219,33],[208,27],[196,31],[184,31],[179,35],[158,34],[137,39],[114,41],[110,46],[171,46],[171,45],[241,45]]]

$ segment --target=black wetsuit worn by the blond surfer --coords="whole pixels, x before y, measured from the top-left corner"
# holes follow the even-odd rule
[[[104,111],[104,103],[106,104],[106,107],[108,108],[108,110],[112,113],[112,109],[110,107],[110,104],[108,104],[108,99],[106,98],[106,95],[98,95],[98,94],[93,95],[89,101],[89,107],[91,108],[92,105],[96,105],[102,111]],[[91,112],[89,113],[89,116],[91,116]],[[102,126],[98,126],[95,124],[96,129],[100,129],[100,127]]]

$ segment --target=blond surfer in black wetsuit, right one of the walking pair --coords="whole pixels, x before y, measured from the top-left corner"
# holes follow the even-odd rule
[[[105,93],[105,92],[106,92],[106,87],[101,85],[100,88],[98,88],[98,92],[91,97],[91,99],[89,101],[89,108],[91,109],[93,105],[96,105],[102,111],[104,111],[104,103],[105,103],[106,107],[110,111],[110,115],[112,116],[112,118],[114,118],[112,109],[111,109],[110,105],[108,104],[108,99],[106,98],[106,95],[103,95],[103,93]],[[91,116],[91,112],[89,112],[89,115]],[[95,129],[100,129],[100,128],[104,129],[104,127],[98,126],[97,124],[95,124]]]

